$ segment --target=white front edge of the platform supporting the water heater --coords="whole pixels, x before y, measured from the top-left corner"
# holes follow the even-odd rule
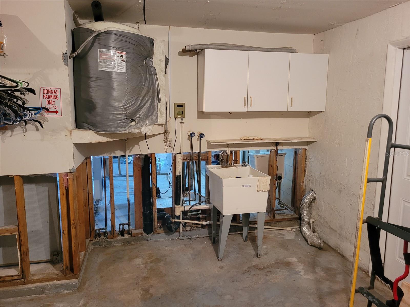
[[[147,132],[147,135],[161,134],[164,133],[163,125],[153,125],[153,129]],[[85,129],[73,129],[71,130],[71,140],[73,143],[100,143],[109,142],[114,140],[125,140],[127,138],[137,138],[139,136],[144,136],[141,132],[124,132],[124,133],[103,133],[95,132],[92,130]]]

